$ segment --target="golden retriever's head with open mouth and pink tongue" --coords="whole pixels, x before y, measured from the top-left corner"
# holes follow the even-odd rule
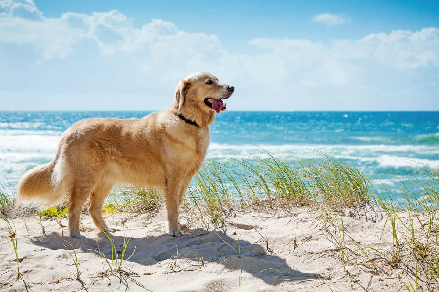
[[[228,99],[234,90],[233,86],[219,83],[218,78],[210,73],[192,73],[177,84],[176,107],[179,112],[184,106],[191,105],[204,112],[219,113],[226,110],[223,100]]]

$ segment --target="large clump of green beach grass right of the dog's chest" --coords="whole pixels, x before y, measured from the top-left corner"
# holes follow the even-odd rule
[[[186,206],[206,227],[220,227],[227,210],[237,208],[319,205],[342,211],[370,204],[373,187],[358,169],[326,155],[292,164],[270,155],[207,162],[188,194]]]

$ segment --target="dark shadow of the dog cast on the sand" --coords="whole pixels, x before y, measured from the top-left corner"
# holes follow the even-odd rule
[[[236,237],[236,239],[231,236]],[[271,255],[273,251],[270,253],[266,250],[265,241],[250,243],[242,238],[238,239],[236,234],[231,236],[228,236],[224,231],[194,229],[180,238],[174,238],[167,234],[131,238],[124,260],[146,266],[165,261],[167,267],[163,268],[166,269],[165,272],[169,273],[202,269],[203,262],[207,264],[215,262],[225,267],[226,271],[247,271],[270,285],[276,285],[281,281],[320,278],[315,273],[298,271],[290,267],[284,258],[275,254]],[[120,258],[124,237],[114,235],[111,237]],[[73,247],[82,250],[82,252],[97,255],[101,252],[106,258],[112,258],[112,244],[105,235],[95,239],[74,239],[62,237],[54,232],[33,238],[32,243],[51,250],[67,250]],[[288,247],[285,249],[288,250]],[[130,258],[128,259],[128,257]],[[216,266],[214,269],[216,268],[217,272],[222,273],[224,272],[223,267]]]

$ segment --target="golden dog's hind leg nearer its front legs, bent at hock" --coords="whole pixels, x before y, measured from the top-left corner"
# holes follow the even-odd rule
[[[102,184],[98,186],[90,196],[90,207],[88,208],[88,211],[90,212],[94,225],[101,232],[117,231],[117,229],[109,228],[107,224],[105,224],[104,217],[102,216],[102,207],[104,205],[105,198],[108,196],[108,193],[111,191],[112,187],[113,186],[111,184]]]

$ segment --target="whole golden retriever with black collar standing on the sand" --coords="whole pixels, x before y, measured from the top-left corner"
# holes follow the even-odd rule
[[[115,232],[102,216],[105,198],[115,183],[154,186],[163,190],[170,236],[183,236],[178,208],[189,183],[204,161],[209,126],[234,87],[206,72],[180,80],[172,105],[141,119],[80,120],[62,135],[55,158],[25,172],[17,202],[68,206],[69,235],[83,238],[79,218],[90,199],[97,229]]]

